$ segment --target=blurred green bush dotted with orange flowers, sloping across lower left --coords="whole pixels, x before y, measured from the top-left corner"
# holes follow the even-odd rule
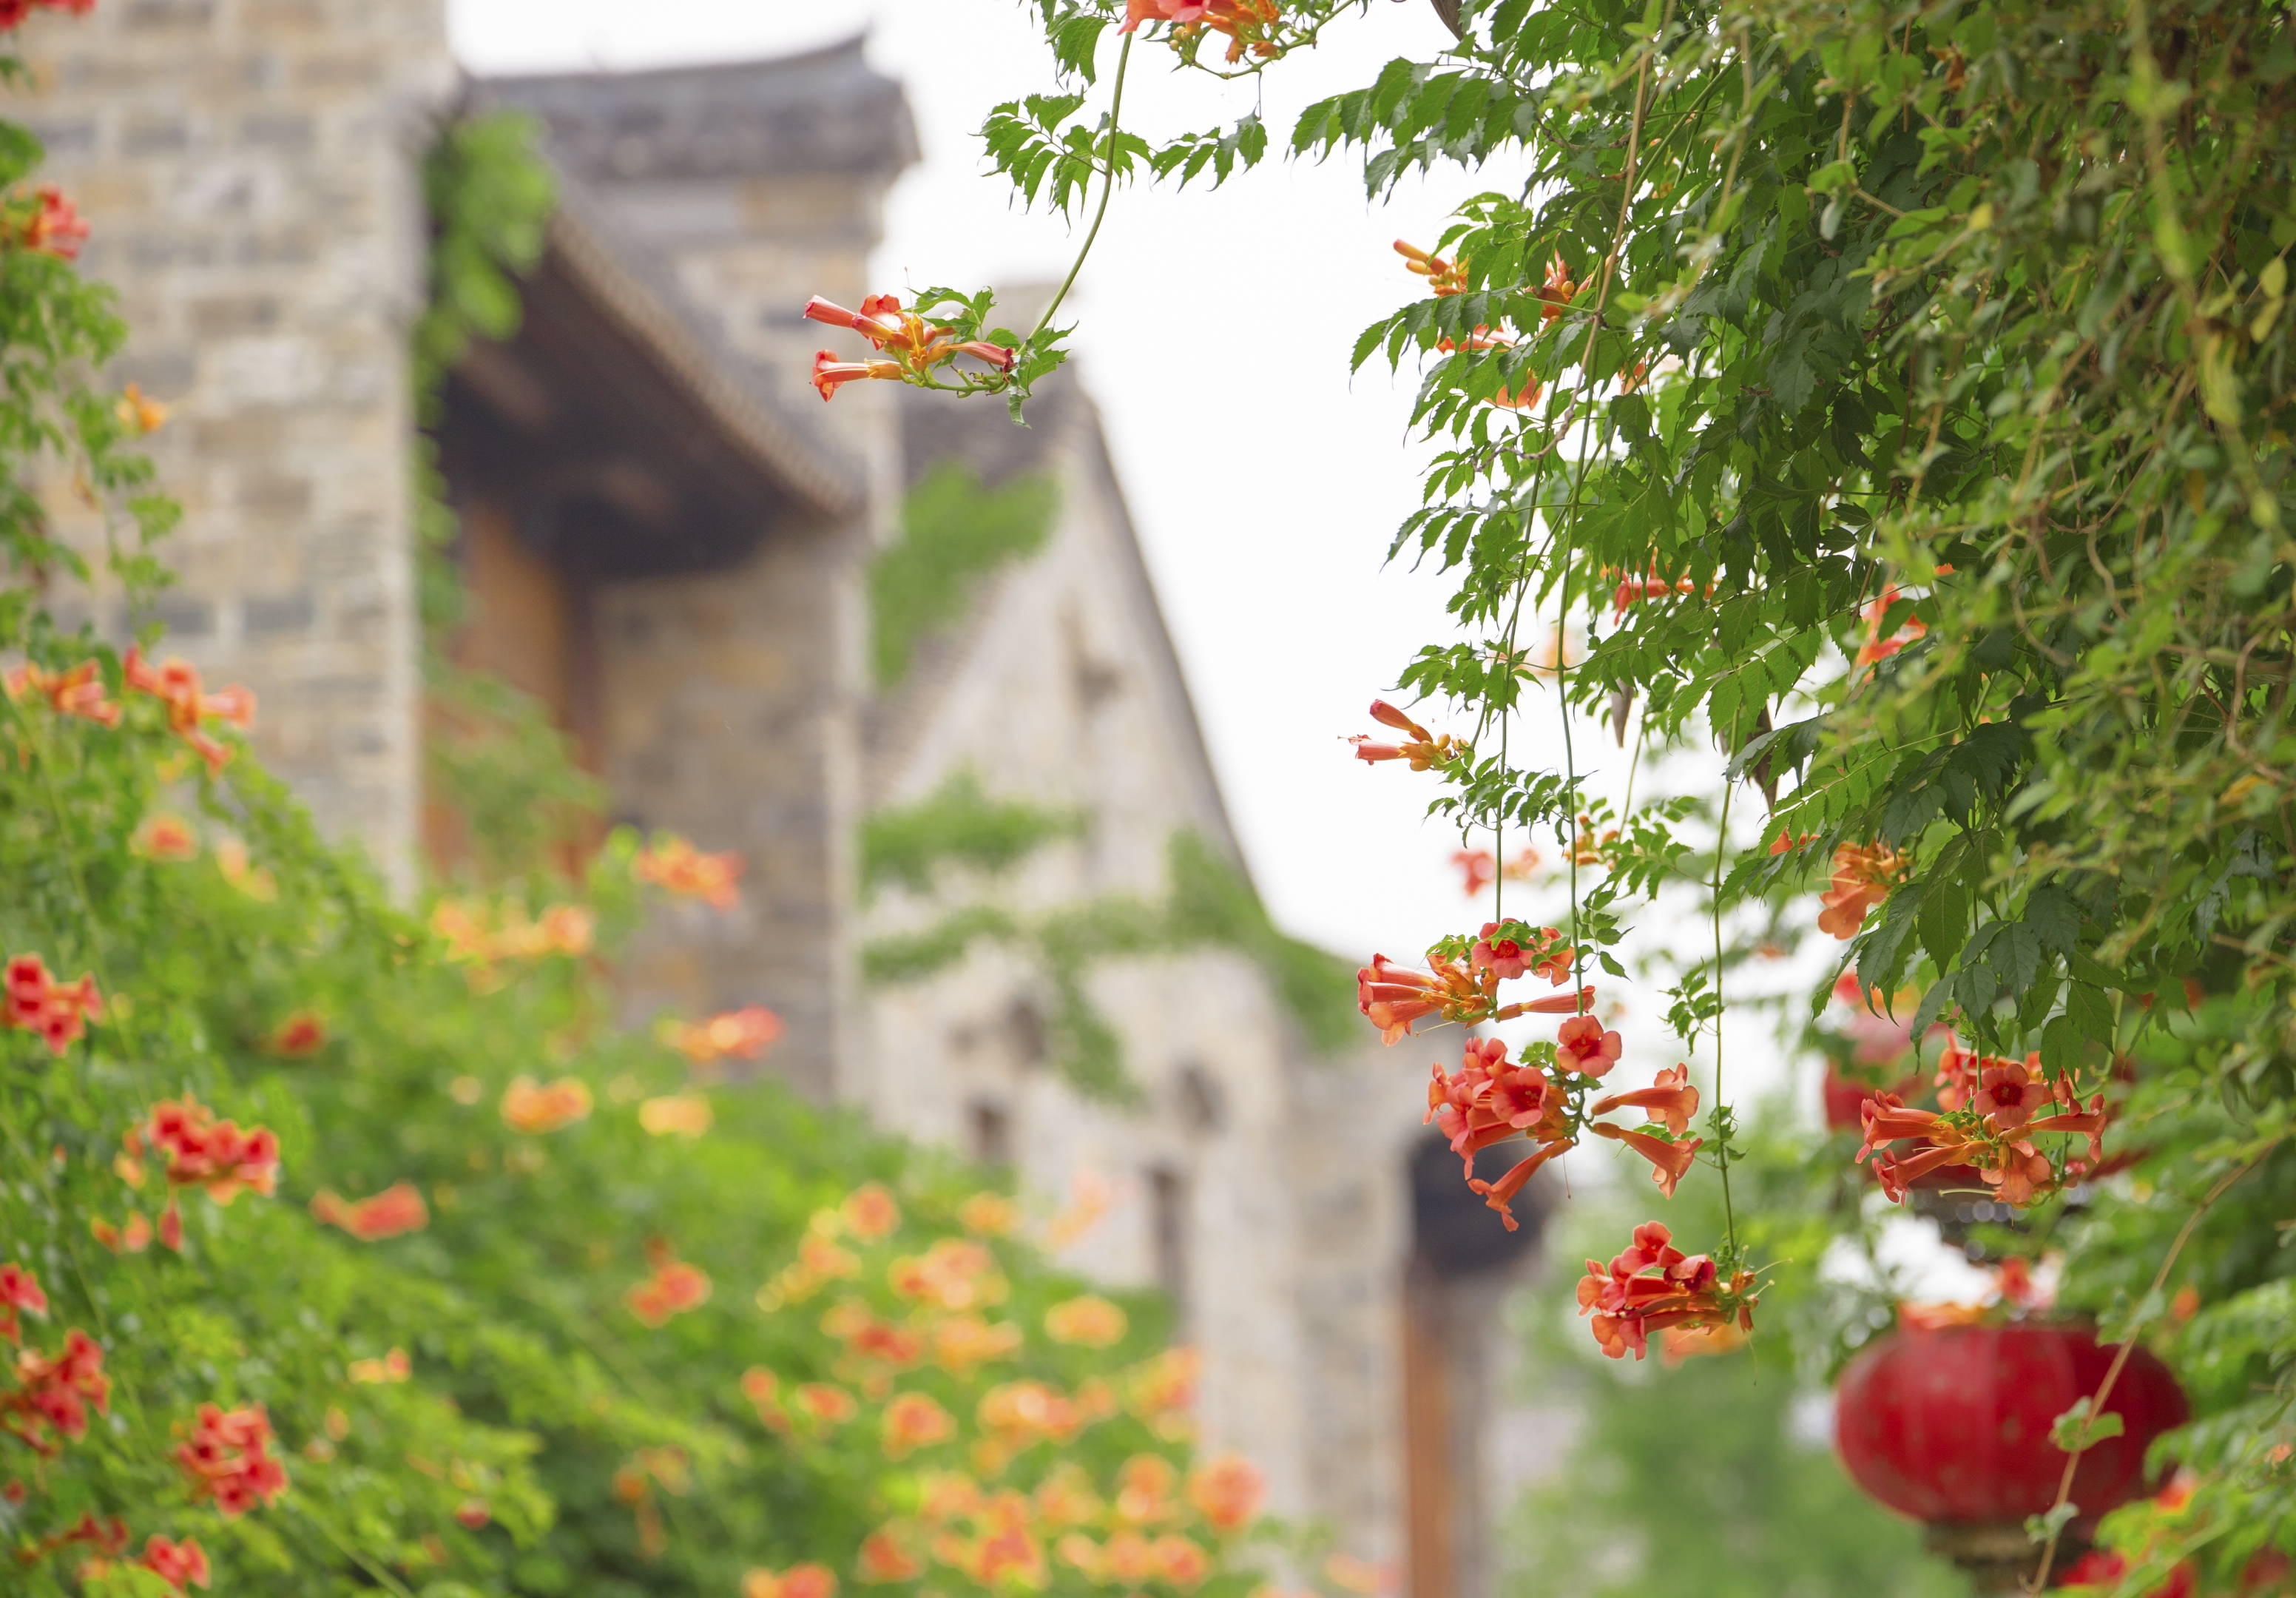
[[[23,177],[30,142],[0,126],[0,152],[16,163],[0,177]],[[7,220],[0,650],[92,673],[0,698],[9,1591],[158,1598],[172,1589],[131,1561],[168,1536],[248,1598],[670,1598],[797,1561],[854,1580],[886,1529],[921,1557],[886,1591],[985,1598],[1013,1575],[978,1564],[983,1518],[1026,1518],[1019,1495],[1075,1472],[1095,1495],[1081,1525],[1107,1529],[1120,1469],[1182,1469],[1185,1373],[1155,1355],[1155,1300],[1102,1313],[1093,1345],[1061,1341],[1047,1311],[1079,1283],[1010,1235],[1017,1210],[971,1171],[613,1026],[606,957],[643,912],[636,838],[608,838],[581,884],[526,879],[425,921],[216,714],[60,636],[46,602],[85,572],[30,484],[78,482],[133,535],[113,560],[133,604],[158,579],[140,542],[170,510],[119,448],[133,409],[85,386],[119,344],[108,301]],[[218,732],[202,760],[191,739]],[[80,1001],[34,992],[34,953],[101,996],[53,1049],[23,1006]],[[227,1171],[188,1164],[158,1116],[193,1102],[271,1132],[276,1162],[253,1141]],[[202,1157],[223,1157],[218,1137],[200,1134]],[[386,1194],[400,1219],[370,1226]],[[108,1380],[78,1378],[85,1430],[34,1407],[73,1332]],[[999,1426],[990,1401],[1013,1382],[1045,1387],[1024,1389],[1026,1414],[1070,1403],[1072,1424]],[[895,1394],[937,1403],[946,1435],[889,1446]],[[790,1419],[833,1398],[847,1421]],[[200,1490],[179,1449],[202,1405],[264,1417],[285,1469],[264,1502],[225,1513]],[[964,1472],[987,1506],[925,1499],[930,1476]],[[1169,1508],[1210,1573],[1146,1587],[1240,1598],[1233,1538]],[[85,1538],[113,1525],[124,1550],[96,1570]],[[1139,1587],[1075,1561],[1029,1575],[1068,1598]]]

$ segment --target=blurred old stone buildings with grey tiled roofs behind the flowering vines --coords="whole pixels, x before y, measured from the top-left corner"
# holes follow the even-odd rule
[[[1277,1508],[1332,1527],[1357,1570],[1407,1564],[1417,1598],[1481,1598],[1481,1398],[1428,1380],[1474,1368],[1467,1309],[1511,1256],[1428,1247],[1394,1086],[1424,1056],[1313,1058],[1235,953],[1134,960],[1093,976],[1141,1084],[1118,1109],[1045,1070],[1031,973],[994,951],[918,987],[856,980],[863,939],[916,914],[863,905],[859,817],[969,762],[1088,817],[1029,863],[1022,902],[1153,898],[1176,829],[1238,856],[1081,390],[1056,383],[1017,434],[891,386],[827,409],[804,386],[824,342],[806,296],[875,287],[879,207],[916,154],[900,85],[859,41],[468,83],[441,0],[106,0],[37,18],[28,48],[28,119],[133,324],[117,377],[174,411],[154,441],[186,507],[170,647],[259,693],[264,760],[409,889],[418,170],[464,108],[542,119],[563,179],[549,253],[521,331],[452,374],[436,436],[473,664],[553,712],[620,820],[746,863],[739,909],[645,934],[634,1019],[767,1003],[788,1022],[774,1065],[804,1091],[1047,1196],[1102,1182],[1070,1258],[1173,1293],[1210,1440],[1254,1453]],[[872,696],[868,563],[905,484],[951,455],[1047,473],[1058,526],[912,686]]]

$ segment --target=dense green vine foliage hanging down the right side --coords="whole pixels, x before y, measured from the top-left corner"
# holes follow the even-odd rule
[[[1359,154],[1375,195],[1506,174],[1430,241],[1449,259],[1421,262],[1428,298],[1355,344],[1419,365],[1440,448],[1394,544],[1451,576],[1465,634],[1401,677],[1465,735],[1435,808],[1550,833],[1568,937],[1612,976],[1616,884],[1697,893],[1704,854],[1715,937],[1678,962],[1685,1040],[1720,1047],[1724,916],[1775,928],[1832,877],[1841,964],[1910,987],[1917,1031],[2110,1095],[2128,1173],[2096,1182],[2043,1137],[2050,1185],[2092,1178],[2085,1203],[2020,1205],[1993,1242],[2062,1242],[2076,1304],[2188,1362],[2202,1412],[2165,1451],[2202,1485],[2122,1518],[2122,1587],[2193,1557],[2229,1589],[2250,1552],[2296,1552],[2296,1327],[2271,1313],[2296,1137],[2287,7],[1437,11],[1453,46],[1290,133],[1295,156]],[[1109,18],[1045,7],[1065,71],[1091,76]],[[1531,666],[1557,636],[1582,659]],[[1733,854],[1727,804],[1582,847],[1573,732],[1605,714],[1639,714],[1651,758],[1717,746],[1740,831],[1738,785],[1768,806],[1754,847]],[[1541,735],[1508,744],[1515,716]],[[1559,769],[1490,753],[1557,742]],[[1756,1215],[1724,1212],[1724,1258]],[[2206,1283],[2183,1334],[2163,1270]]]

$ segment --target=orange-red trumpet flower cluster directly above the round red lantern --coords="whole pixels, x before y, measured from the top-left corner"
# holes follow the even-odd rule
[[[2048,1081],[2039,1054],[2004,1061],[1947,1045],[1938,1084],[1942,1111],[1908,1109],[1896,1093],[1876,1093],[1860,1107],[1864,1143],[1857,1159],[1878,1155],[1874,1173],[1892,1201],[1903,1201],[1931,1173],[1968,1166],[1995,1198],[2023,1208],[2105,1157],[2105,1095],[2092,1095],[2082,1109],[2073,1079]],[[2048,1109],[2055,1114],[2037,1114]],[[2087,1159],[2043,1155],[2032,1139],[2048,1132],[2085,1137]],[[1910,1141],[1913,1153],[1894,1153],[1896,1141]]]

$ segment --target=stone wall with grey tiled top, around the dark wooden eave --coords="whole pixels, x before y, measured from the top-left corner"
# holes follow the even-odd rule
[[[824,78],[845,87],[815,103]],[[813,338],[829,331],[799,312],[810,294],[868,292],[882,193],[914,158],[907,108],[859,48],[810,67],[505,78],[478,92],[542,115],[551,156],[620,239],[781,406],[868,466],[870,501],[852,521],[769,528],[737,569],[606,583],[595,597],[615,804],[746,861],[737,912],[684,907],[641,939],[631,1008],[769,1003],[788,1022],[769,1068],[831,1097],[856,1015],[863,583],[898,505],[898,434],[889,395],[847,390],[822,406],[806,372],[833,335]]]

